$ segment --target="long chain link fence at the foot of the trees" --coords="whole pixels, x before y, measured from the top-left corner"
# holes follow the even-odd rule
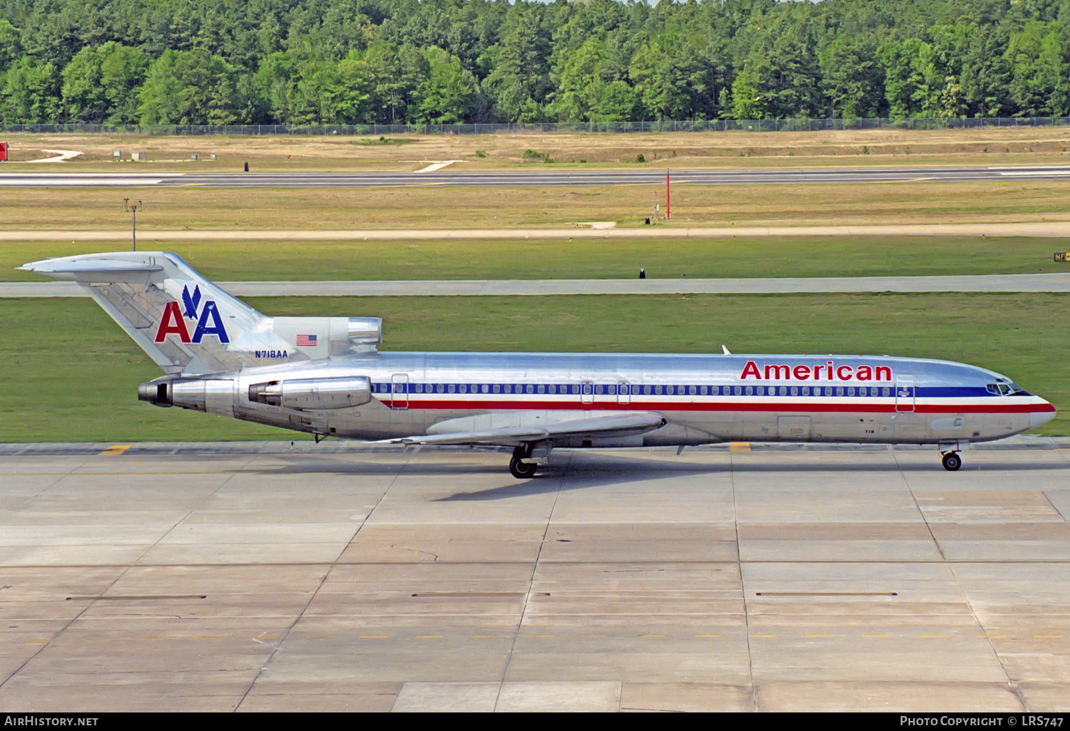
[[[0,134],[204,135],[502,135],[554,133],[819,131],[824,129],[960,129],[1054,127],[1070,116],[961,116],[949,119],[663,120],[660,122],[510,122],[506,124],[0,124]]]

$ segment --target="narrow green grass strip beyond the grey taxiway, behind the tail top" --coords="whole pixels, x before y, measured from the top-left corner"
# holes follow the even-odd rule
[[[0,280],[44,281],[15,267],[114,244],[0,244]],[[615,279],[859,277],[1070,271],[1063,238],[662,238],[413,242],[205,242],[160,248],[214,280]]]

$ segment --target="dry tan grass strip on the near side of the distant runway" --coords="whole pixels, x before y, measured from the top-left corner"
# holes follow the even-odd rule
[[[656,186],[607,188],[0,189],[9,230],[117,230],[123,198],[142,201],[138,229],[461,229],[639,225]],[[687,186],[666,225],[837,225],[1070,220],[1070,181]]]

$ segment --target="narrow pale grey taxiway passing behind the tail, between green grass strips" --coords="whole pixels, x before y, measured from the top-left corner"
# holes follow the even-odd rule
[[[797,277],[784,279],[457,279],[404,281],[218,282],[238,297],[413,297],[851,292],[1070,292],[1070,273],[957,277]],[[74,282],[0,282],[2,297],[86,297]]]

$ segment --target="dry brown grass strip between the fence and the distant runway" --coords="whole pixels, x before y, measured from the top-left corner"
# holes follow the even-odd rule
[[[434,160],[462,160],[458,170],[544,166],[523,153],[545,153],[563,166],[647,165],[675,169],[819,167],[855,165],[1022,165],[1066,162],[1070,127],[987,127],[942,130],[829,130],[813,133],[649,133],[393,135],[378,137],[154,137],[135,135],[7,135],[16,164],[3,169],[45,171],[138,170],[211,172],[412,171]],[[57,166],[18,165],[45,157],[46,149],[78,150],[80,157]],[[113,150],[129,158],[144,151],[148,162],[116,162]],[[482,151],[485,157],[477,156]],[[200,160],[189,159],[198,153]],[[215,153],[216,160],[209,155]],[[580,162],[586,160],[586,162]]]

